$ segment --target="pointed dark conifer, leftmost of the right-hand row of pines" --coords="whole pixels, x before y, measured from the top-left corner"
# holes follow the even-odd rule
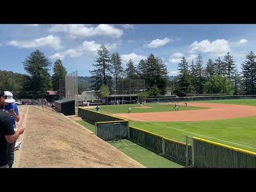
[[[178,63],[179,77],[177,82],[177,94],[179,97],[185,97],[186,93],[189,93],[191,82],[188,70],[188,61],[185,57],[181,58],[181,61]]]

